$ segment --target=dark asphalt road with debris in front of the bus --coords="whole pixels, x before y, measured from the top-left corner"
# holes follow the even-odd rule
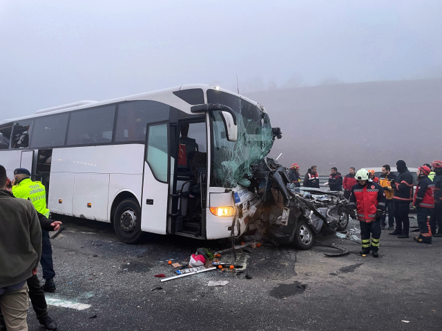
[[[337,251],[263,245],[238,251],[237,263],[252,279],[215,270],[160,283],[155,274],[174,274],[167,261],[186,265],[196,248],[215,251],[229,241],[150,235],[125,245],[110,224],[62,221],[66,230],[52,240],[57,292],[46,297],[58,330],[442,328],[442,238],[424,245],[384,230],[379,259],[359,256],[360,245],[336,236],[321,241],[351,254],[325,257]],[[350,223],[355,227],[358,222]],[[233,256],[222,254],[220,261],[231,263]],[[221,280],[229,283],[207,286]],[[41,330],[32,308],[28,323],[29,330]]]

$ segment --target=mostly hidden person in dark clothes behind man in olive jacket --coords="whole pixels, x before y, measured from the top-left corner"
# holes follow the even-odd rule
[[[11,185],[7,185],[6,190],[11,193]],[[52,221],[44,216],[44,214],[40,214],[37,212],[37,216],[39,218],[39,223],[41,230],[46,231],[58,231],[61,225],[60,221]],[[26,280],[28,284],[29,290],[29,299],[32,303],[32,308],[34,308],[35,316],[39,321],[39,325],[41,327],[46,328],[46,330],[56,330],[57,323],[53,321],[48,314],[48,304],[46,303],[46,298],[44,295],[44,290],[40,286],[39,278],[37,274],[32,274],[32,277]],[[3,319],[3,315],[0,311],[0,331],[6,330],[6,323]]]

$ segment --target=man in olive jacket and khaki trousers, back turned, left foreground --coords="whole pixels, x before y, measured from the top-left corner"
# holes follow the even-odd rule
[[[0,310],[8,330],[28,330],[26,280],[37,274],[41,228],[32,203],[15,199],[9,183],[0,165]]]

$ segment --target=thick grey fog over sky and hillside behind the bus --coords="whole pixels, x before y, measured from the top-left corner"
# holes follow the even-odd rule
[[[416,165],[442,158],[441,13],[439,0],[1,1],[0,117],[209,83],[265,105],[284,132],[272,153],[302,171]]]

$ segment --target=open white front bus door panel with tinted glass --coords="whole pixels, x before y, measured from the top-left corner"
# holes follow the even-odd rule
[[[169,141],[168,121],[147,125],[142,188],[142,231],[166,234],[171,183]]]

